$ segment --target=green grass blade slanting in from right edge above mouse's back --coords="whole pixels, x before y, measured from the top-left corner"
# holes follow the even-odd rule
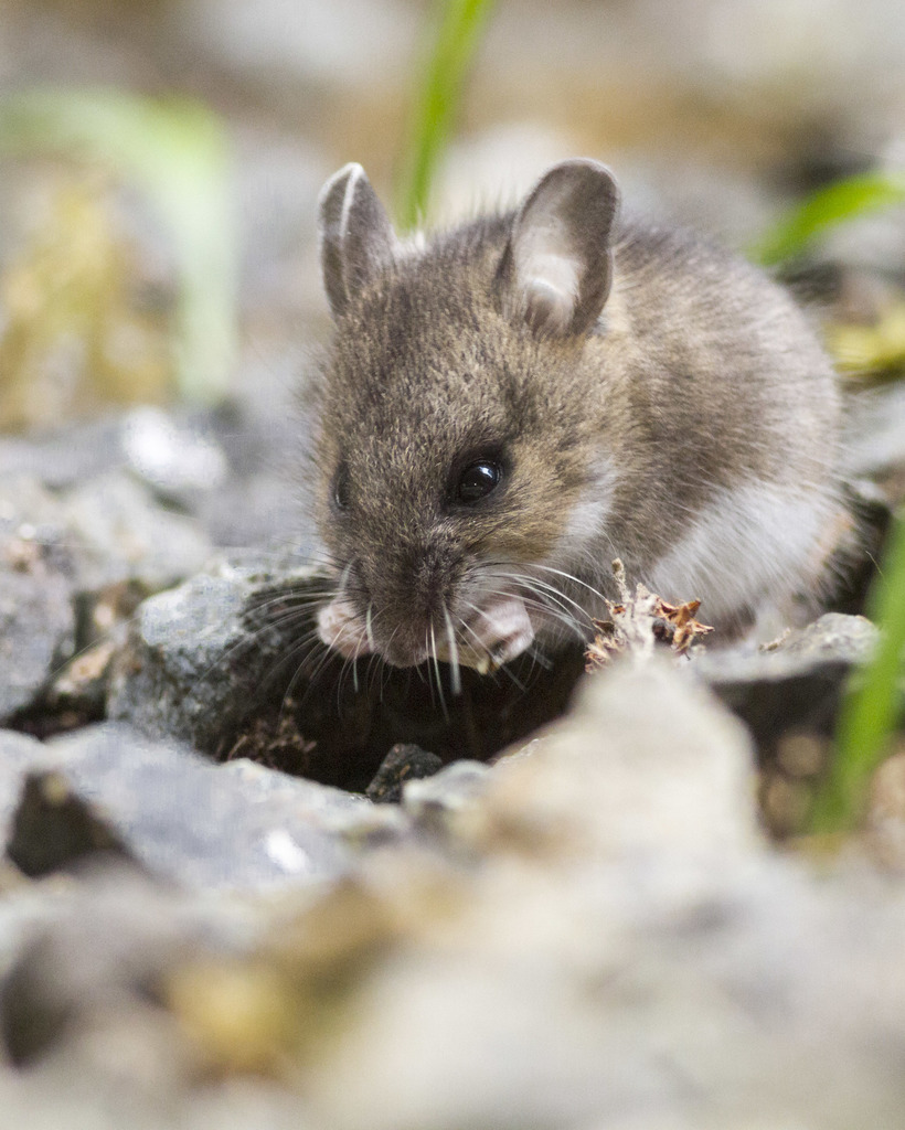
[[[751,258],[773,267],[800,257],[821,235],[846,220],[905,202],[905,175],[860,173],[809,195],[751,249]]]

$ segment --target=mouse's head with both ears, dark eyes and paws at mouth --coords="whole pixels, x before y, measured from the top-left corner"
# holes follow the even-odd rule
[[[599,475],[581,374],[617,202],[602,165],[574,160],[514,212],[402,242],[360,166],[325,185],[336,334],[314,496],[332,647],[486,669],[568,618],[537,567],[584,520]]]

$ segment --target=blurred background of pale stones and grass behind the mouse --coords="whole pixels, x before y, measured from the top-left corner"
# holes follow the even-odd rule
[[[228,401],[291,441],[286,406],[328,331],[317,191],[359,160],[399,216],[443,11],[3,0],[0,429]],[[633,207],[750,251],[815,189],[905,163],[899,0],[499,0],[472,38],[430,219],[512,201],[581,154]],[[900,327],[903,264],[894,208],[834,231],[798,273],[835,318],[893,310]]]

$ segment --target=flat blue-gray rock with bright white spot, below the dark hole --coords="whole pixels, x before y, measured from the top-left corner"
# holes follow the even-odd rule
[[[262,766],[211,764],[122,723],[46,745],[5,736],[0,754],[8,746],[14,757],[0,777],[5,838],[25,773],[56,770],[151,873],[206,889],[336,877],[350,858],[337,829],[369,807]]]

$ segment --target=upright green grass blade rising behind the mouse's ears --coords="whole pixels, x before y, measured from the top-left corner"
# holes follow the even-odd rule
[[[427,209],[437,160],[452,130],[462,86],[494,0],[445,0],[440,32],[416,101],[397,217],[403,229]]]

